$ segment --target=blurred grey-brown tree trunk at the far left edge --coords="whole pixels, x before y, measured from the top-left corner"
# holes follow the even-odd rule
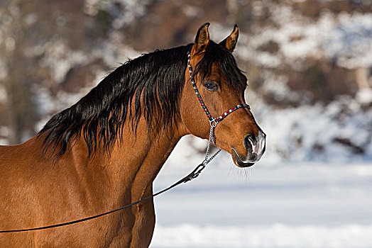
[[[23,20],[21,1],[1,1],[1,33],[4,42],[0,45],[6,77],[1,81],[7,94],[8,124],[12,129],[11,144],[20,143],[35,133],[35,104],[32,85],[35,82],[33,57],[26,57],[28,44],[25,33],[27,23]]]

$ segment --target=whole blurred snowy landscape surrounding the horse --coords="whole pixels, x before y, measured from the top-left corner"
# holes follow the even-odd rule
[[[240,28],[246,101],[268,135],[251,169],[219,154],[155,198],[151,247],[372,247],[370,0],[0,1],[0,144],[35,135],[128,58]],[[184,137],[159,191],[202,161]]]

